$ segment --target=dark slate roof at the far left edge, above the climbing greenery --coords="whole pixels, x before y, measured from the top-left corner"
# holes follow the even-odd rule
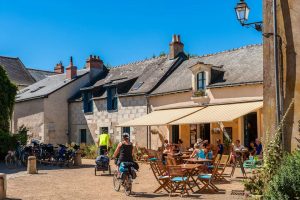
[[[17,86],[28,86],[36,82],[19,58],[0,56],[0,65]]]

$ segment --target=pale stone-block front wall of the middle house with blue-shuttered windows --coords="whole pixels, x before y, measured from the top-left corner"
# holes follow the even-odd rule
[[[82,102],[70,103],[71,141],[80,142],[80,129],[87,129],[88,143],[94,143],[101,127],[108,127],[113,142],[121,140],[122,128],[117,125],[147,114],[145,96],[118,98],[118,111],[107,111],[106,98],[94,99],[93,113],[84,114]],[[131,127],[131,140],[139,146],[147,146],[147,128]]]

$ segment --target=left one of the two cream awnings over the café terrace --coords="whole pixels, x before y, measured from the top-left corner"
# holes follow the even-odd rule
[[[157,110],[140,118],[119,124],[118,126],[158,126],[166,125],[189,114],[201,110],[202,107]]]

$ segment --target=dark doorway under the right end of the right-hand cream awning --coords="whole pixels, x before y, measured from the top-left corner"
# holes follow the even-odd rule
[[[250,142],[255,142],[257,138],[257,114],[249,113],[244,116],[244,145],[250,146]]]

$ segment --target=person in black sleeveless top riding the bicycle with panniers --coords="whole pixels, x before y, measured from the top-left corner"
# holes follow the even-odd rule
[[[117,166],[119,167],[121,162],[133,162],[133,145],[129,140],[129,134],[123,134],[123,141],[117,146],[117,149],[113,155],[114,158],[118,158]]]

